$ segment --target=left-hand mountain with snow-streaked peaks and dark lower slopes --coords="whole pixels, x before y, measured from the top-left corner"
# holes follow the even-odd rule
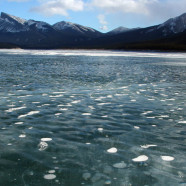
[[[81,25],[60,22],[54,25],[25,20],[6,13],[0,16],[0,42],[21,48],[70,48],[102,33]]]

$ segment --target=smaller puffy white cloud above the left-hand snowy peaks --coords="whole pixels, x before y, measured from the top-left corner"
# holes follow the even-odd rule
[[[47,16],[68,16],[68,11],[83,11],[84,2],[83,0],[47,0],[41,1],[40,6],[34,7],[31,10]]]

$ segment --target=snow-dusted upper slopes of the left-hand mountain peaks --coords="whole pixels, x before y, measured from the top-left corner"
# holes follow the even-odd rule
[[[92,28],[70,22],[62,21],[52,26],[46,22],[25,20],[4,12],[2,12],[0,16],[0,31],[3,33],[18,33],[25,31],[38,31],[44,33],[50,31],[65,31],[68,34],[70,33],[73,35],[84,35],[88,37],[97,37],[101,34],[100,32]]]

